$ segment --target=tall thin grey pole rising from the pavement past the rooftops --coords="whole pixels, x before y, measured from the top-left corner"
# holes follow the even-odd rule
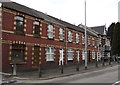
[[[85,70],[87,70],[87,27],[86,27],[86,0],[85,0]]]

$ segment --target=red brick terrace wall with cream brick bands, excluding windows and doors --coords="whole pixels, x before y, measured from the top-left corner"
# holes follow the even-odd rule
[[[10,11],[7,9],[4,9],[3,11],[3,30],[2,30],[2,35],[3,35],[3,70],[9,70],[10,65],[9,63],[11,62],[11,45],[15,43],[25,43],[26,48],[25,48],[25,62],[26,64],[19,66],[19,69],[30,69],[34,68],[33,64],[33,48],[35,45],[40,46],[40,53],[39,53],[39,60],[38,64],[42,64],[42,66],[56,66],[59,65],[59,50],[60,48],[64,49],[64,63],[69,63],[67,62],[67,50],[68,48],[71,48],[74,50],[73,52],[73,62],[71,64],[76,63],[76,51],[80,51],[80,62],[82,62],[82,50],[84,50],[84,45],[82,45],[82,33],[78,32],[79,34],[79,44],[76,44],[76,32],[74,30],[71,30],[72,35],[73,35],[73,41],[72,43],[67,43],[68,42],[68,28],[64,28],[62,26],[54,24],[54,40],[48,39],[47,36],[47,26],[50,24],[47,21],[40,20],[38,18],[34,18],[28,15],[22,14],[25,19],[24,19],[24,36],[21,35],[16,35],[14,34],[15,32],[15,16],[21,13],[15,12],[15,11]],[[33,22],[35,20],[38,20],[41,22],[40,24],[40,38],[34,38],[33,37]],[[59,28],[64,29],[64,41],[59,41]],[[66,34],[67,33],[67,34]],[[92,36],[91,36],[92,37]],[[67,40],[67,42],[66,42]],[[91,39],[92,40],[92,39]],[[92,41],[91,41],[92,42]],[[96,40],[95,40],[96,42]],[[54,47],[54,62],[47,62],[46,61],[46,47],[52,46]],[[96,50],[97,48],[94,48],[93,46],[88,47],[89,50]],[[8,52],[8,53],[6,53]],[[90,56],[91,57],[91,56]]]

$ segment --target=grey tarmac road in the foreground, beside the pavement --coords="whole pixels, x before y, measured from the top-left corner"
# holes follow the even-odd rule
[[[120,75],[119,71],[120,68],[118,68],[118,65],[116,65],[102,70],[76,74],[72,76],[60,77],[55,79],[49,79],[49,80],[24,80],[23,83],[29,83],[29,84],[32,83],[32,85],[34,85],[34,83],[61,83],[61,84],[62,83],[69,83],[69,84],[70,83],[114,83],[119,80],[118,79],[118,75]]]

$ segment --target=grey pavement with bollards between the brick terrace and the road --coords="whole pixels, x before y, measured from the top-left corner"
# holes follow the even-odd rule
[[[76,65],[65,65],[63,67],[63,73],[61,73],[61,67],[56,67],[52,69],[41,69],[41,77],[39,77],[39,71],[24,71],[24,72],[17,72],[16,76],[13,76],[12,73],[2,73],[2,83],[20,83],[22,80],[49,80],[58,77],[65,77],[71,76],[80,73],[92,72],[100,69],[104,69],[107,67],[118,65],[117,62],[112,62],[109,65],[108,62],[105,62],[105,66],[102,66],[102,63],[98,63],[98,67],[96,67],[95,63],[89,63],[88,69],[85,70],[84,64],[79,65],[79,71],[76,71]]]

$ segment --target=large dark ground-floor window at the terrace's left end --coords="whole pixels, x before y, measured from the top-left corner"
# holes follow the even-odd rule
[[[25,45],[13,44],[12,45],[12,60],[15,62],[23,62],[25,56]]]

